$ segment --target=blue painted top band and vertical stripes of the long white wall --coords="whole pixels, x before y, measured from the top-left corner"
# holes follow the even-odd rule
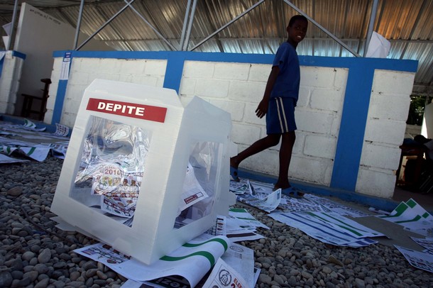
[[[185,61],[238,62],[271,64],[274,55],[219,52],[127,52],[127,51],[70,51],[72,57],[101,57],[118,59],[167,60],[163,87],[179,92]],[[63,57],[65,51],[55,51],[54,57]],[[363,135],[375,70],[417,72],[415,60],[382,58],[300,56],[300,65],[349,69],[348,82],[341,115],[341,127],[336,145],[331,187],[354,191],[361,160]],[[67,81],[59,83],[53,122],[60,122]]]

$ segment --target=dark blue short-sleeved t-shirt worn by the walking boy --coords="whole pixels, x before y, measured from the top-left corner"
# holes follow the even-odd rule
[[[277,50],[273,66],[280,68],[280,73],[275,80],[270,97],[290,97],[295,99],[299,96],[300,87],[300,64],[297,52],[290,43],[283,43]]]

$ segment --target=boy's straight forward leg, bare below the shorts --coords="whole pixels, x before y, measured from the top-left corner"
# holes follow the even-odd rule
[[[280,172],[278,174],[278,180],[275,183],[274,188],[285,189],[290,187],[289,183],[289,165],[292,159],[293,145],[295,145],[295,131],[283,133],[280,148]]]

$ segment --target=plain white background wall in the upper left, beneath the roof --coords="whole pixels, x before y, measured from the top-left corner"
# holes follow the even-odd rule
[[[53,69],[53,52],[71,50],[75,39],[75,28],[26,3],[21,4],[15,44],[13,50],[26,54],[15,114],[21,113],[21,94],[41,95],[43,83],[50,78]],[[81,40],[85,39],[81,35]],[[82,50],[112,50],[104,43],[89,41]]]

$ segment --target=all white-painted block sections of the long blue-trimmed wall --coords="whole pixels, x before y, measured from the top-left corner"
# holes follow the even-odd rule
[[[55,58],[45,123],[51,123],[62,58]],[[165,60],[124,60],[74,57],[60,123],[74,126],[84,89],[95,78],[162,87]],[[290,177],[330,186],[349,70],[301,67],[300,99],[295,117],[297,140]],[[200,96],[231,113],[231,140],[239,150],[265,135],[265,119],[254,111],[263,96],[270,65],[187,61],[180,82],[180,99],[186,104]],[[395,170],[405,135],[414,73],[376,70],[356,192],[389,198],[395,187]],[[265,150],[242,162],[241,167],[278,175],[278,150]]]

